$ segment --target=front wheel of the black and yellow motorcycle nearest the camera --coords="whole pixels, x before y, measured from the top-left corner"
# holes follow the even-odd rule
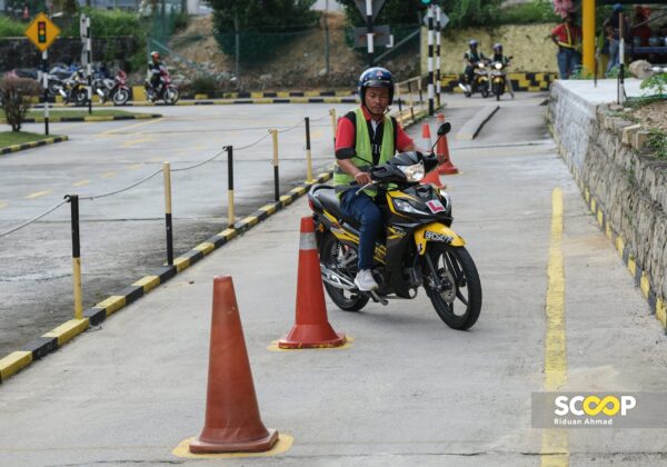
[[[469,329],[481,310],[481,284],[470,254],[444,244],[430,244],[426,254],[434,269],[426,267],[425,288],[436,312],[450,328]]]

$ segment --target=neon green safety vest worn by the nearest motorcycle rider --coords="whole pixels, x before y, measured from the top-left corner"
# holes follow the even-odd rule
[[[355,109],[355,116],[357,117],[357,127],[355,132],[355,151],[357,155],[360,155],[364,160],[357,156],[351,158],[350,160],[355,166],[357,166],[362,171],[370,170],[371,165],[368,160],[372,160],[372,149],[370,147],[370,136],[368,135],[368,123],[366,121],[366,116],[364,115],[364,110],[360,107]],[[380,160],[378,165],[387,162],[389,159],[394,157],[395,148],[394,148],[394,125],[391,122],[391,118],[385,116],[382,118],[382,143],[380,148]],[[344,171],[340,166],[336,167],[336,172],[334,173],[334,185],[349,185],[355,181],[355,177],[348,175]],[[367,188],[364,190],[370,197],[375,197],[377,195],[377,189]]]

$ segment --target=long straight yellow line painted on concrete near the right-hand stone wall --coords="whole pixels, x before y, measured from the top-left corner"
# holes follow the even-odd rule
[[[565,268],[563,260],[563,190],[551,193],[551,240],[546,304],[545,390],[555,391],[567,381],[565,338]],[[569,465],[569,435],[566,430],[545,429],[541,446],[542,466]]]

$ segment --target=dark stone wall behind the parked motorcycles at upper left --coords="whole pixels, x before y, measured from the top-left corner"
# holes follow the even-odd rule
[[[49,62],[81,61],[79,38],[58,38],[49,48]],[[93,61],[128,60],[137,50],[133,37],[92,39]],[[0,71],[38,68],[41,52],[26,38],[0,38]]]

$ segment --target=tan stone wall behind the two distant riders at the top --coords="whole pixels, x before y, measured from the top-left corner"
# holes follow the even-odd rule
[[[494,53],[494,43],[502,43],[502,51],[512,56],[510,71],[557,72],[556,46],[549,39],[556,24],[507,24],[496,28],[467,28],[445,30],[440,43],[440,67],[442,73],[460,73],[464,70],[464,53],[468,41],[477,39],[479,50],[486,56]],[[421,74],[428,72],[428,36],[421,28]],[[435,67],[435,63],[434,63]]]

